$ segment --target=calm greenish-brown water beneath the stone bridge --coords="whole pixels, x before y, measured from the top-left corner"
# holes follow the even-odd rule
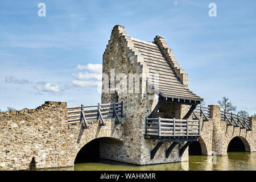
[[[229,171],[246,170],[256,171],[256,152],[229,152],[228,156],[189,156],[189,162],[156,164],[149,166],[135,166],[133,164],[100,160],[97,163],[75,164],[75,167],[59,168],[51,170],[75,170],[75,171]]]

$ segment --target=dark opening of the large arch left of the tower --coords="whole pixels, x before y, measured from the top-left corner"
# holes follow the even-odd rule
[[[113,152],[121,143],[120,140],[110,137],[97,138],[86,143],[76,155],[75,164],[99,162],[101,153]]]

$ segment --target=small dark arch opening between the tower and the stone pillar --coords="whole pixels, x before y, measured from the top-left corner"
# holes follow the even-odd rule
[[[203,138],[199,137],[197,142],[192,142],[188,147],[189,155],[208,155],[207,146]]]

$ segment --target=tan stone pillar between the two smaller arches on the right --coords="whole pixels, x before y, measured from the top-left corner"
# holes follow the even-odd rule
[[[220,126],[220,106],[208,105],[208,107],[210,107],[210,118],[213,121],[212,151],[216,152],[216,155],[227,155],[227,152],[224,150],[225,134]]]

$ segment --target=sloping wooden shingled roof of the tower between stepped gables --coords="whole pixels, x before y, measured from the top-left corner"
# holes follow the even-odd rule
[[[149,68],[150,77],[154,78],[154,74],[159,75],[158,88],[153,88],[159,92],[160,96],[166,98],[178,98],[181,100],[203,101],[203,98],[191,92],[177,77],[174,69],[168,63],[163,53],[155,43],[144,42],[142,40],[131,38],[134,43],[134,49],[137,50],[143,57],[144,63]],[[151,86],[154,84],[154,79],[148,81]]]

